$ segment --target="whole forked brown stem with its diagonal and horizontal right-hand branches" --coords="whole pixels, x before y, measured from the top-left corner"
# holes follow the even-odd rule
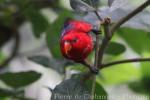
[[[121,18],[111,28],[110,28],[110,22],[107,22],[108,18],[104,19],[104,23],[102,23],[102,24],[104,25],[105,37],[102,40],[102,44],[101,44],[100,48],[98,48],[98,41],[99,41],[98,36],[96,37],[98,39],[98,41],[96,40],[97,44],[96,44],[95,63],[94,63],[95,68],[102,69],[104,67],[108,67],[108,66],[112,66],[112,65],[116,65],[116,64],[129,63],[129,62],[139,62],[139,61],[150,61],[150,58],[143,58],[143,59],[135,58],[135,59],[127,59],[127,60],[121,60],[121,61],[111,62],[111,63],[107,63],[107,64],[102,64],[105,49],[107,48],[109,41],[111,40],[116,29],[118,29],[122,24],[124,24],[126,21],[128,21],[129,19],[134,17],[136,14],[141,12],[148,5],[150,5],[150,0],[147,0],[142,5],[140,5],[138,8],[136,8],[131,13],[129,13],[127,16]],[[98,12],[95,11],[94,13],[96,14],[96,16],[98,17],[100,22],[103,22],[103,20],[99,16]],[[83,63],[83,64],[86,65],[85,63]],[[86,65],[86,66],[88,66],[88,65]],[[88,66],[88,67],[90,67],[90,66]]]

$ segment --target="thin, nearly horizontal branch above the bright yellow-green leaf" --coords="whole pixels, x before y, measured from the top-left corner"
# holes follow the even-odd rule
[[[115,61],[115,62],[110,62],[106,64],[102,64],[102,68],[114,66],[114,65],[119,65],[119,64],[124,64],[124,63],[132,63],[132,62],[147,62],[150,61],[150,58],[133,58],[133,59],[125,59],[125,60],[120,60],[120,61]]]

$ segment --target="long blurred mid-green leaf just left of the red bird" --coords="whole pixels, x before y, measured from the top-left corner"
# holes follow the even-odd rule
[[[47,30],[47,36],[46,36],[46,41],[47,45],[55,58],[62,58],[62,55],[60,53],[60,47],[59,47],[59,41],[60,41],[60,36],[61,36],[61,29],[64,26],[64,21],[66,20],[67,17],[71,17],[72,14],[68,10],[63,10],[59,14],[59,17],[55,20],[54,23],[52,23]]]

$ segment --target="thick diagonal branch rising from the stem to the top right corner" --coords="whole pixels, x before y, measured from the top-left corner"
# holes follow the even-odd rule
[[[112,33],[112,35],[116,31],[116,29],[118,29],[122,24],[124,24],[126,21],[128,21],[129,19],[131,19],[132,17],[134,17],[136,14],[138,14],[139,12],[141,12],[143,9],[145,9],[149,5],[150,5],[150,0],[147,0],[146,2],[144,2],[143,4],[141,4],[139,7],[137,7],[135,10],[133,10],[131,13],[129,13],[127,16],[121,18],[116,24],[114,24],[111,27],[111,33]]]

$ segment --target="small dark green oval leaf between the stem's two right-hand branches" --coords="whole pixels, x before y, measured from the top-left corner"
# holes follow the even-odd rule
[[[109,55],[119,55],[126,51],[126,48],[123,44],[110,42],[108,48],[106,49],[106,54]]]

